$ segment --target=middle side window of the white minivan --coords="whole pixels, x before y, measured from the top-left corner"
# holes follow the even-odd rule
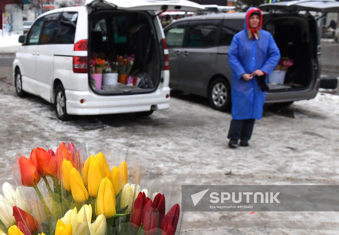
[[[45,16],[39,44],[56,43],[60,15],[58,13]]]

